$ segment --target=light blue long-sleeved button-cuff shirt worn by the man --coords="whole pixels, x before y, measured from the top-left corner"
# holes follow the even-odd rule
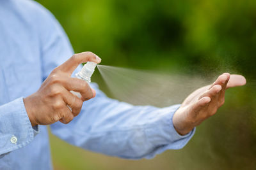
[[[52,169],[47,127],[31,127],[23,97],[36,92],[73,53],[60,24],[40,4],[0,0],[0,169]],[[172,117],[179,105],[132,106],[91,86],[96,97],[70,124],[50,126],[71,145],[124,159],[150,159],[182,148],[195,132],[180,136],[175,131]]]

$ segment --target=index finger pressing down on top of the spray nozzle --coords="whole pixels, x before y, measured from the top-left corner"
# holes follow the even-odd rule
[[[70,57],[70,59],[68,59],[66,62],[56,67],[55,70],[61,70],[71,75],[79,64],[88,61],[96,62],[99,64],[101,59],[92,52],[76,53],[72,55],[72,57]]]

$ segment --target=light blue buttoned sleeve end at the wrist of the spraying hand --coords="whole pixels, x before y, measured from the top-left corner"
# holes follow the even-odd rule
[[[0,155],[27,145],[37,133],[38,126],[31,126],[22,97],[0,106]]]

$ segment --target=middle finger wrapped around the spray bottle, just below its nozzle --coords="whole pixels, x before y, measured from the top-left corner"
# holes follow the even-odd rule
[[[83,101],[88,101],[95,96],[95,90],[90,87],[90,85],[79,78],[72,78],[72,77],[63,77],[60,80],[61,85],[68,91],[75,91],[81,94],[81,99]]]

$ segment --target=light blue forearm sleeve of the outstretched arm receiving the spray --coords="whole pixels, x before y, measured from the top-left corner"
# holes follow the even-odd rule
[[[59,138],[93,152],[124,159],[150,159],[188,143],[195,129],[180,136],[172,117],[180,105],[167,108],[132,106],[106,97],[97,89],[95,98],[84,103],[81,113],[67,125],[51,125]]]

